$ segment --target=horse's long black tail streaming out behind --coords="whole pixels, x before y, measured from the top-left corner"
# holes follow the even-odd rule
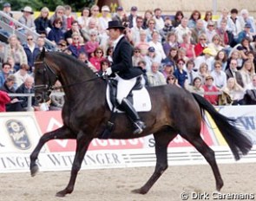
[[[222,133],[224,139],[226,139],[226,143],[233,152],[234,158],[239,160],[241,153],[246,155],[247,152],[251,150],[253,143],[236,126],[236,123],[238,122],[236,120],[227,118],[221,113],[218,113],[213,105],[199,94],[192,94],[200,108],[206,110],[212,116],[214,122],[220,129],[220,133]]]

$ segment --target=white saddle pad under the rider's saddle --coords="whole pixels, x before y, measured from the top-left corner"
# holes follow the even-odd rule
[[[133,93],[134,107],[137,112],[148,112],[151,110],[151,107],[152,107],[151,100],[148,94],[148,90],[146,88],[143,87],[140,90],[133,90],[132,93]],[[107,87],[106,98],[108,102],[108,107],[110,110],[112,110],[113,105],[109,97],[109,86]],[[114,112],[123,113],[123,111],[120,111],[116,108]]]

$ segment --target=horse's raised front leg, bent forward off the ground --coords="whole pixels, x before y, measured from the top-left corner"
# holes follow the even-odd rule
[[[50,139],[75,139],[76,136],[72,133],[68,127],[62,126],[55,131],[45,133],[39,140],[36,148],[30,154],[30,173],[31,176],[34,177],[36,172],[38,172],[38,165],[36,164],[36,159],[38,158],[38,154],[42,149],[43,145],[48,142]]]

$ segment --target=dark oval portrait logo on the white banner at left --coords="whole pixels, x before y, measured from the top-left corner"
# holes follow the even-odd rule
[[[14,146],[18,149],[29,149],[31,146],[26,127],[20,120],[8,120],[5,123],[8,134]]]

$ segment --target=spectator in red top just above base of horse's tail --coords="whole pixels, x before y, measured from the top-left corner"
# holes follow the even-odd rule
[[[208,100],[214,106],[217,106],[218,100],[219,100],[219,98],[218,98],[219,95],[217,93],[219,92],[219,89],[213,85],[213,77],[211,75],[208,75],[206,77],[206,84],[204,84],[202,86],[202,88],[204,88],[205,93],[206,93],[206,94],[204,94],[204,98],[206,100]],[[209,94],[207,94],[207,93],[209,93]],[[214,94],[214,93],[216,93],[216,94]]]

